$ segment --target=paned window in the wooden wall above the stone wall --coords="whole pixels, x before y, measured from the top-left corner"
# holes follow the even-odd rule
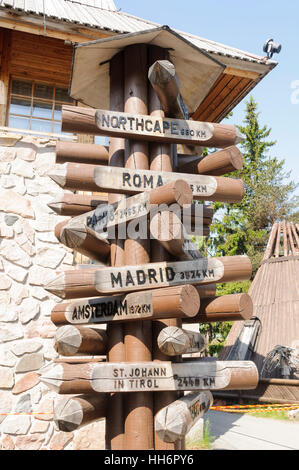
[[[8,126],[61,134],[61,107],[74,104],[67,89],[56,85],[12,79]]]

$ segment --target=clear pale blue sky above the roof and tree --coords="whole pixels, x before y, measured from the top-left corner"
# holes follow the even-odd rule
[[[272,156],[285,159],[285,168],[299,181],[299,2],[297,0],[115,0],[122,11],[264,56],[263,44],[274,38],[282,50],[278,66],[252,94],[259,103],[260,122],[272,128],[277,140]],[[291,103],[292,83],[297,86]],[[246,98],[245,98],[246,100]],[[241,124],[245,100],[234,110]],[[226,121],[227,122],[227,121]]]

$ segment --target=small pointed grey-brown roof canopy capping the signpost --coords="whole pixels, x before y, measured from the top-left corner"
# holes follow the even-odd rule
[[[71,97],[94,108],[109,109],[109,61],[133,44],[149,44],[169,50],[189,114],[196,111],[225,69],[225,65],[209,53],[168,26],[162,26],[75,46]]]

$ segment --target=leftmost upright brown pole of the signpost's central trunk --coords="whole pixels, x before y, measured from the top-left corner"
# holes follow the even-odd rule
[[[110,62],[110,109],[123,111],[124,108],[124,55],[117,54]],[[124,166],[125,141],[121,138],[111,138],[109,147],[108,165],[113,167]],[[113,204],[123,198],[122,195],[109,194],[108,203]],[[123,266],[125,264],[124,241],[111,241],[111,266]],[[108,353],[110,362],[124,362],[125,342],[122,325],[108,323]],[[106,448],[111,450],[124,449],[124,402],[119,393],[111,394],[108,399],[106,423]]]

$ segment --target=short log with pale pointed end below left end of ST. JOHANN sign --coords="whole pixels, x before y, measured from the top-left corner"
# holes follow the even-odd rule
[[[81,426],[106,417],[106,394],[60,397],[54,402],[54,422],[59,431],[73,432]]]

